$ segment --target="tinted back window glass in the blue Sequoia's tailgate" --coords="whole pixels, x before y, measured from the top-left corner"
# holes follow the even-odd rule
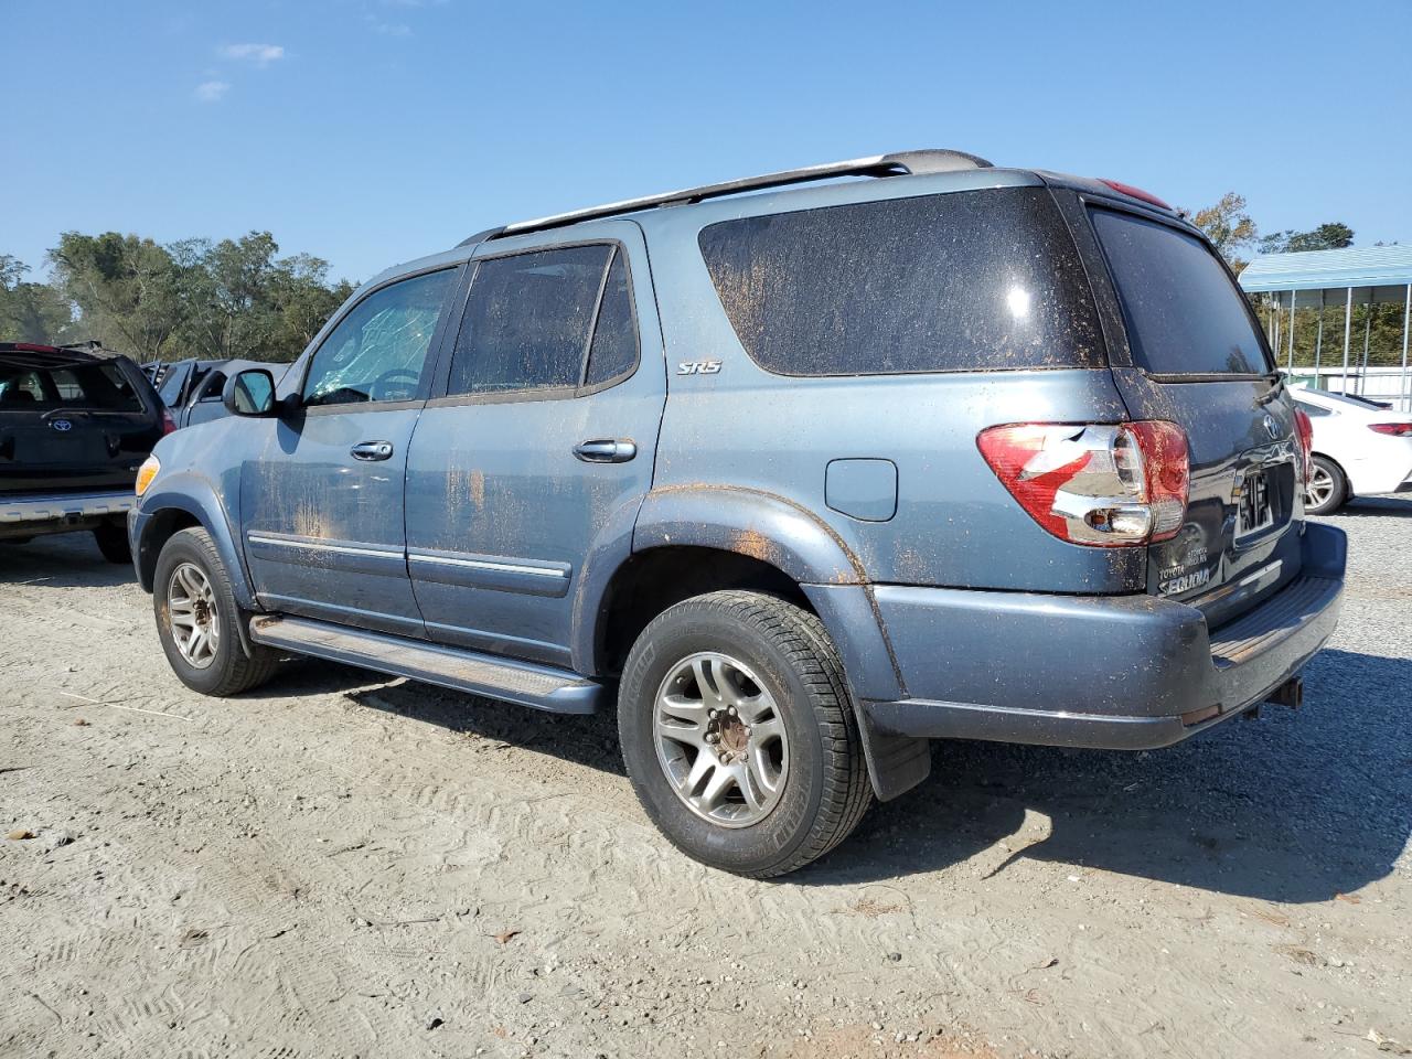
[[[1091,216],[1138,367],[1159,376],[1271,370],[1245,297],[1199,239],[1131,213]]]

